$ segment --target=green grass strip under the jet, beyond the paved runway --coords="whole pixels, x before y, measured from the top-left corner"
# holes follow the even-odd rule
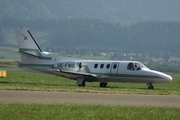
[[[146,84],[137,83],[108,83],[107,88],[100,88],[97,82],[86,82],[85,87],[78,87],[74,80],[49,74],[16,72],[11,68],[7,71],[6,78],[0,78],[0,89],[109,94],[180,95],[180,74],[172,74],[172,76],[172,82],[154,84],[154,90],[148,90]]]

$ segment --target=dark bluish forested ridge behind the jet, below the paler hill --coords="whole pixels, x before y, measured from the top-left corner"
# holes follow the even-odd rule
[[[130,25],[114,24],[90,18],[24,20],[3,18],[0,21],[1,45],[6,44],[5,29],[25,26],[32,33],[51,36],[42,46],[96,49],[99,51],[163,51],[179,52],[180,23],[144,21]]]

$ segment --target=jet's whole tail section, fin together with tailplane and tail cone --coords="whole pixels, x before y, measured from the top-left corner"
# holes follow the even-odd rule
[[[22,66],[30,66],[33,64],[45,64],[52,57],[44,53],[36,40],[27,28],[20,27],[16,30],[16,37],[21,55]]]

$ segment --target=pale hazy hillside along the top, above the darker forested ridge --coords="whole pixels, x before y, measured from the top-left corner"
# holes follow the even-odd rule
[[[0,0],[0,18],[180,21],[180,0]]]

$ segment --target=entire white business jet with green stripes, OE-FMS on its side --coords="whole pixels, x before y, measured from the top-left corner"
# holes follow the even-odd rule
[[[42,72],[67,77],[77,81],[100,82],[106,87],[108,82],[147,83],[154,89],[154,83],[172,81],[172,77],[147,68],[138,61],[84,60],[52,56],[43,52],[27,28],[17,28],[16,36],[25,71]]]

